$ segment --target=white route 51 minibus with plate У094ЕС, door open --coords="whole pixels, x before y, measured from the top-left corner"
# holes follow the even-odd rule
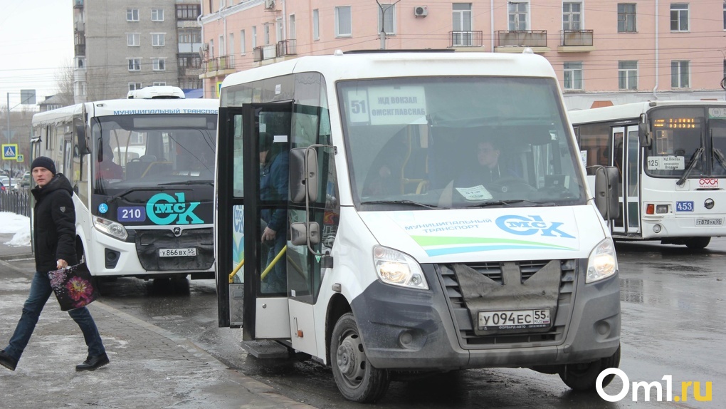
[[[219,325],[253,354],[309,354],[358,402],[399,373],[595,390],[618,366],[608,169],[594,199],[544,58],[335,52],[234,73],[220,105]],[[510,176],[457,182],[484,140]]]

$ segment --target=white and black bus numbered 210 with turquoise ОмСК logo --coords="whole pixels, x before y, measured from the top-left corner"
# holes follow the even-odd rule
[[[144,90],[37,113],[33,158],[52,158],[70,179],[91,274],[212,278],[219,101]]]

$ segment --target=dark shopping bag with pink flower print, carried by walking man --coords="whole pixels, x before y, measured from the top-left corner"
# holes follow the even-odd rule
[[[48,278],[62,311],[86,307],[101,295],[86,263],[49,271]]]

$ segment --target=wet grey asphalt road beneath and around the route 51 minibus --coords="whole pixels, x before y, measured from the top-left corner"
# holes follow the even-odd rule
[[[620,368],[633,381],[672,376],[712,382],[712,402],[644,402],[632,395],[605,402],[571,392],[556,375],[526,369],[461,370],[412,382],[393,382],[375,405],[340,397],[332,373],[314,361],[256,360],[240,348],[241,330],[217,328],[212,280],[119,279],[104,285],[104,302],[184,336],[229,366],[280,393],[317,408],[725,408],[726,238],[703,251],[656,243],[618,243],[623,311]],[[606,388],[621,391],[618,378]],[[630,389],[632,392],[632,388]],[[654,391],[653,391],[654,392]]]

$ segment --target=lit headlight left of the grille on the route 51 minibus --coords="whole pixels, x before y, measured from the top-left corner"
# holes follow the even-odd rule
[[[407,254],[382,246],[373,248],[373,261],[378,278],[383,283],[428,290],[420,265]]]

